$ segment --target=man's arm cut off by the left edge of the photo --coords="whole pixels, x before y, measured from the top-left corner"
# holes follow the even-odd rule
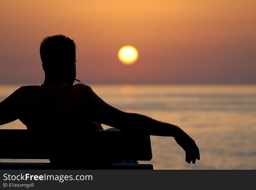
[[[0,102],[0,125],[13,122],[18,119],[16,114],[17,90]]]

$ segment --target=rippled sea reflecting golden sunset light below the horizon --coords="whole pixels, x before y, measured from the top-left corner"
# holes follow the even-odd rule
[[[0,85],[0,101],[19,86]],[[122,111],[181,127],[200,149],[201,159],[187,164],[173,137],[151,136],[153,159],[140,163],[154,169],[256,169],[256,85],[90,86]],[[26,127],[16,120],[0,128]]]

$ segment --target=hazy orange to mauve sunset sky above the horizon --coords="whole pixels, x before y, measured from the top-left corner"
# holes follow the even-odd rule
[[[256,83],[255,0],[39,2],[1,1],[0,84],[41,84],[40,41],[56,34],[76,42],[85,84]]]

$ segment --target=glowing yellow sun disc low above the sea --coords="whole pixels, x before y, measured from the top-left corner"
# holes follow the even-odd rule
[[[126,65],[134,64],[138,60],[139,54],[133,46],[123,46],[118,51],[118,59]]]

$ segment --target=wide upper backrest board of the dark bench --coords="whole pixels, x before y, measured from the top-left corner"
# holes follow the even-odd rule
[[[136,131],[134,131],[136,133]],[[149,135],[119,130],[81,134],[0,130],[1,159],[50,159],[74,162],[151,160]]]

